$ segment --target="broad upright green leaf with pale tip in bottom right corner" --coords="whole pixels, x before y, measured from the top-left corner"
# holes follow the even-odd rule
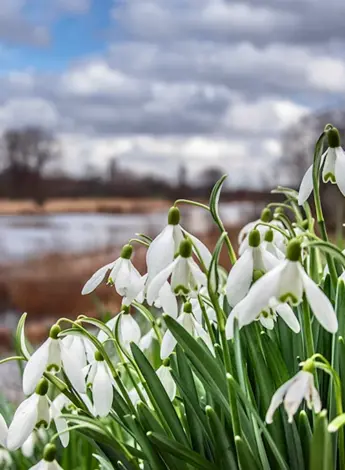
[[[310,470],[330,470],[332,462],[332,446],[327,430],[327,411],[319,413],[315,420],[314,434],[310,449]]]

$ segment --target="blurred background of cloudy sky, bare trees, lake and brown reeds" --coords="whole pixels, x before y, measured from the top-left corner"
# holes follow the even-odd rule
[[[236,237],[273,187],[297,188],[324,125],[344,134],[344,15],[342,0],[1,0],[0,347],[23,311],[33,342],[53,318],[115,313],[113,289],[82,285],[176,198],[207,201],[228,173]],[[213,246],[207,214],[183,224]]]

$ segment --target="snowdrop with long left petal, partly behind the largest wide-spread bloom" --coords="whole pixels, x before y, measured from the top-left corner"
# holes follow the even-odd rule
[[[267,272],[279,261],[260,244],[260,232],[252,230],[248,237],[248,248],[231,269],[226,285],[226,296],[233,307],[240,302],[249,291],[255,272]]]

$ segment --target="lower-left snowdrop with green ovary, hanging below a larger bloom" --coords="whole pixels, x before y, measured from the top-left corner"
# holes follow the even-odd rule
[[[41,379],[36,391],[17,408],[8,429],[7,448],[16,450],[21,447],[35,427],[49,427],[50,412],[47,398],[48,382]]]

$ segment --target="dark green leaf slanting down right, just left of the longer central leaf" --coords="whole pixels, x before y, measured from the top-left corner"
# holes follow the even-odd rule
[[[181,422],[156,372],[136,344],[131,343],[131,350],[135,362],[152,393],[157,412],[160,412],[163,416],[175,439],[179,442],[186,442],[186,435]]]

